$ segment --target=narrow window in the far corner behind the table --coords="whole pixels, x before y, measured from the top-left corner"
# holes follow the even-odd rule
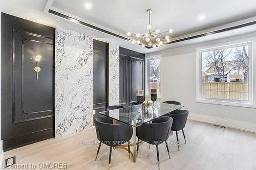
[[[160,57],[146,58],[146,95],[150,89],[157,89],[160,95]]]

